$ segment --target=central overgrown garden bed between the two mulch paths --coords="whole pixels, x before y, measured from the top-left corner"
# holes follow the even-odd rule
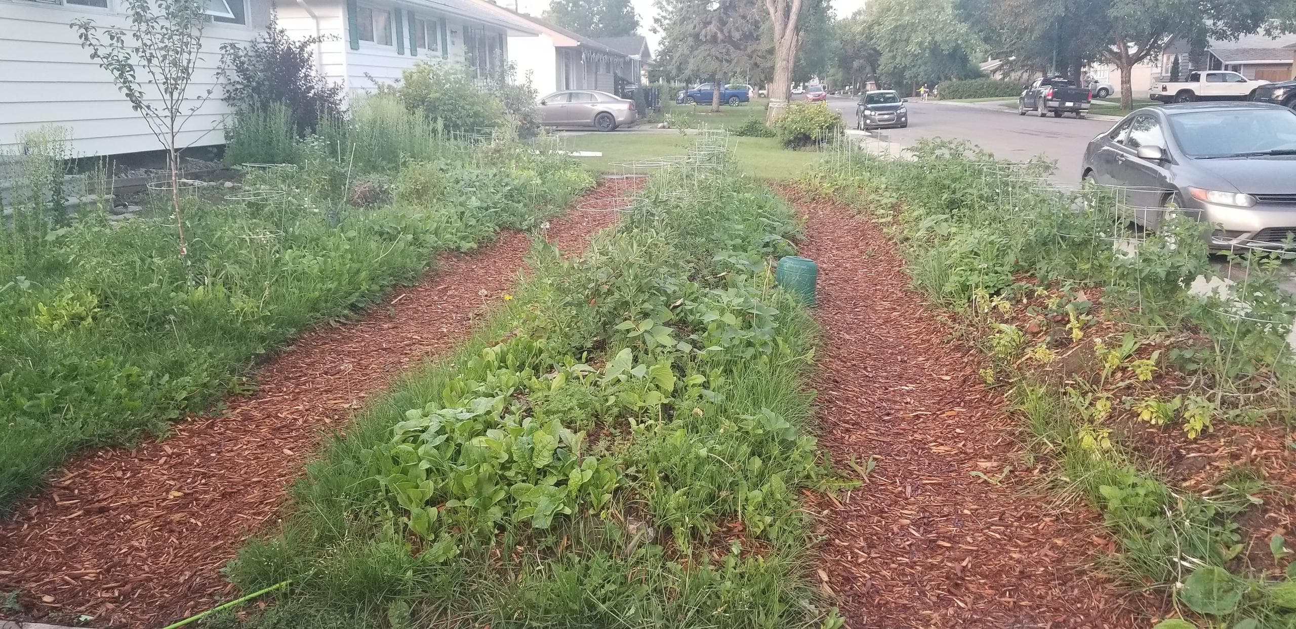
[[[791,208],[731,166],[638,194],[583,256],[538,247],[489,331],[328,445],[229,567],[293,580],[249,625],[824,623],[800,492],[849,483],[806,431],[814,325],[765,264]]]

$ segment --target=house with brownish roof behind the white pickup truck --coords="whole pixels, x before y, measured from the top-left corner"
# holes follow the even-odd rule
[[[1296,78],[1296,34],[1277,38],[1253,34],[1236,41],[1210,40],[1205,52],[1196,57],[1187,41],[1173,41],[1159,60],[1161,75],[1170,75],[1175,57],[1181,76],[1190,70],[1231,70],[1248,79],[1287,80]]]

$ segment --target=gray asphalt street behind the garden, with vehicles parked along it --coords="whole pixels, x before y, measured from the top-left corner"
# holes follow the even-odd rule
[[[854,127],[857,100],[829,97],[828,106],[841,111],[846,124]],[[875,133],[881,133],[901,146],[912,146],[924,137],[967,140],[999,159],[1015,162],[1043,155],[1058,164],[1054,180],[1063,184],[1080,182],[1080,160],[1085,154],[1085,145],[1116,124],[1112,120],[1081,120],[1074,116],[1020,116],[1015,110],[997,104],[972,106],[910,98],[906,109],[908,128],[881,129]]]

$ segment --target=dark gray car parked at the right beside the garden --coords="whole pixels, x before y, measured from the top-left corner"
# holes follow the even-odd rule
[[[1128,186],[1134,219],[1156,229],[1172,203],[1216,224],[1210,247],[1275,248],[1296,233],[1296,111],[1194,102],[1126,115],[1085,149],[1081,177]]]

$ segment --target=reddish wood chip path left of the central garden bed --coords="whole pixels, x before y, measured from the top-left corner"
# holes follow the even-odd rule
[[[578,201],[639,185],[605,181]],[[582,251],[617,212],[570,211],[546,238]],[[325,431],[413,362],[442,355],[517,280],[530,243],[502,232],[445,254],[422,281],[343,325],[324,325],[268,359],[258,390],[223,415],[192,417],[162,441],[70,461],[0,524],[0,593],[21,590],[27,619],[161,626],[231,598],[219,569],[276,511]],[[0,617],[8,613],[0,612]],[[18,620],[18,619],[14,619]]]

